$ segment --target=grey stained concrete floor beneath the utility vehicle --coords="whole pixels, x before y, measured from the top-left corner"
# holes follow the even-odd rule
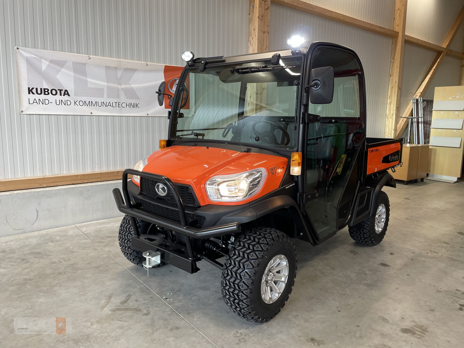
[[[385,191],[383,242],[356,245],[346,229],[318,247],[297,241],[293,292],[266,324],[229,311],[204,261],[147,278],[119,251],[119,218],[3,237],[0,346],[463,347],[464,182]],[[45,316],[71,317],[72,333],[13,334],[15,317]]]

